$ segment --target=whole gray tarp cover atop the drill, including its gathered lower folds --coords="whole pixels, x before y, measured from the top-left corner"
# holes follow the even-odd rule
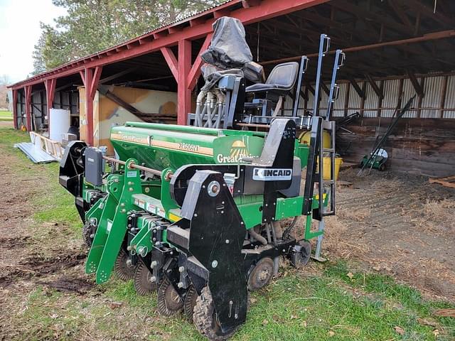
[[[224,75],[243,76],[242,67],[253,59],[240,20],[223,16],[213,23],[210,46],[200,55],[205,80],[202,91],[210,90]]]

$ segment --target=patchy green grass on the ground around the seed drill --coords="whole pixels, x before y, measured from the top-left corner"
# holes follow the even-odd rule
[[[30,199],[41,207],[33,215],[33,231],[68,229],[65,238],[74,242],[80,239],[80,222],[73,197],[58,185],[58,164],[32,165],[12,148],[27,139],[0,127],[0,153],[45,179]],[[43,239],[57,242],[65,247],[65,239]],[[92,278],[82,267],[77,271],[81,278]],[[21,332],[18,340],[204,340],[183,316],[160,316],[156,296],[137,296],[132,281],[112,278],[84,295],[37,283],[26,293],[10,295],[8,314],[12,328]],[[232,340],[455,340],[455,318],[435,313],[454,305],[427,301],[414,288],[341,259],[312,262],[303,271],[284,266],[251,297],[247,323]]]

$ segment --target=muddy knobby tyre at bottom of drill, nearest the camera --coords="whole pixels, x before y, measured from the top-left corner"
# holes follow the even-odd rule
[[[223,341],[231,337],[235,330],[223,334],[220,324],[216,318],[215,307],[213,306],[212,295],[208,286],[202,289],[200,296],[196,300],[193,314],[194,324],[200,334],[204,335],[210,341]]]

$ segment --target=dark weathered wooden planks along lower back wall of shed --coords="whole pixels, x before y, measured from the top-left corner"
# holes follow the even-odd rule
[[[347,126],[355,134],[338,132],[337,149],[348,161],[358,162],[371,151],[376,134],[390,118],[364,118]],[[387,166],[429,176],[455,174],[455,119],[402,119],[387,140]]]

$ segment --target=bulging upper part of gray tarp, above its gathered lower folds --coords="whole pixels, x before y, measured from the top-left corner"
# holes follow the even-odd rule
[[[223,16],[215,21],[210,46],[200,57],[222,70],[242,68],[250,63],[253,56],[240,20]]]

